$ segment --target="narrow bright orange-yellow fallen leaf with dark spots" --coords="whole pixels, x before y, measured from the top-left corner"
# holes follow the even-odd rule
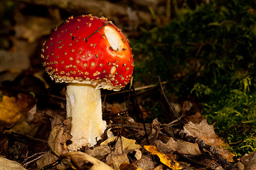
[[[157,147],[153,145],[144,145],[144,148],[151,154],[156,154],[157,157],[159,157],[160,162],[165,164],[169,168],[173,170],[183,169],[183,166],[181,166],[181,164],[179,164],[175,160],[171,160],[169,157],[166,156],[166,154],[159,152],[157,150]]]

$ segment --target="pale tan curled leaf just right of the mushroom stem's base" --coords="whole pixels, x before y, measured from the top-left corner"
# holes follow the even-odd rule
[[[114,149],[106,157],[106,163],[112,166],[114,169],[119,169],[119,164],[129,162],[127,154],[135,152],[134,157],[140,159],[142,152],[139,150],[140,145],[136,144],[135,140],[129,140],[125,137],[110,137],[100,145],[114,144]]]

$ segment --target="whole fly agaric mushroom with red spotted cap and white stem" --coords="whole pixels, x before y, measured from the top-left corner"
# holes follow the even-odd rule
[[[94,146],[106,128],[100,89],[118,91],[132,77],[127,38],[105,17],[71,16],[46,40],[41,57],[50,78],[67,83],[67,118],[73,118],[68,148]]]

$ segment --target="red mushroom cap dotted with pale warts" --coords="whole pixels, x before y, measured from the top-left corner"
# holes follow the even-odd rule
[[[71,16],[42,49],[43,66],[56,82],[92,84],[119,90],[134,69],[132,50],[121,30],[107,18]]]

